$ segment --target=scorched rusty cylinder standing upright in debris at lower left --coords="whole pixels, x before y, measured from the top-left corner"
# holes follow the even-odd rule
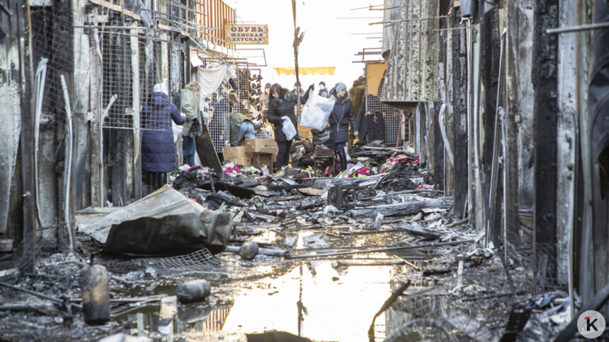
[[[80,274],[84,322],[104,324],[110,320],[108,272],[101,265],[86,266]]]

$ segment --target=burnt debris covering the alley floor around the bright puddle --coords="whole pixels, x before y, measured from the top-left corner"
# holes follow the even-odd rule
[[[230,307],[239,288],[299,265],[315,275],[318,261],[331,262],[332,281],[353,267],[394,267],[398,290],[377,313],[390,308],[387,341],[533,340],[567,324],[567,295],[530,295],[527,261],[512,256],[506,264],[467,219],[452,218],[452,199],[434,189],[416,155],[363,148],[335,177],[300,167],[266,171],[192,167],[129,206],[79,212],[79,249],[42,255],[33,271],[0,283],[3,338],[142,335],[139,316],[128,313],[148,307],[159,319],[142,338],[164,339],[174,321],[207,320],[210,310]],[[108,323],[99,326],[85,323],[82,274],[91,264],[108,270],[101,321]],[[207,315],[193,318],[193,311]]]

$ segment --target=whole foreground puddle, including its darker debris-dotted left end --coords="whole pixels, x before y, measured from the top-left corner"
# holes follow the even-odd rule
[[[178,305],[171,326],[159,324],[159,305],[133,308],[115,321],[146,331],[157,341],[178,336],[205,339],[214,331],[232,336],[273,330],[314,341],[368,341],[372,317],[391,295],[394,266],[350,266],[338,273],[331,261],[314,261],[314,269],[316,276],[302,265],[277,278],[234,284],[232,306]],[[173,295],[175,288],[162,285],[155,292]],[[385,337],[384,314],[375,321],[375,337]]]

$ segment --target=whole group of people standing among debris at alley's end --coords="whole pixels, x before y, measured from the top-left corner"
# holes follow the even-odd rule
[[[365,78],[360,77],[353,82],[353,87],[347,90],[345,83],[338,82],[333,88],[326,88],[324,81],[319,82],[317,90],[312,84],[307,90],[302,90],[300,83],[295,83],[291,91],[278,83],[266,83],[261,94],[261,121],[273,125],[278,153],[275,169],[280,170],[290,162],[290,147],[292,141],[299,138],[296,118],[296,106],[300,97],[301,105],[307,102],[313,91],[321,98],[336,99],[329,114],[328,123],[321,131],[312,130],[315,136],[325,136],[324,145],[334,148],[340,160],[341,170],[346,170],[346,146],[352,146],[358,137],[358,114],[365,100]],[[195,165],[196,138],[203,132],[206,124],[201,110],[198,92],[201,86],[192,81],[181,90],[180,108],[169,100],[166,86],[156,84],[152,93],[142,107],[142,119],[147,121],[147,129],[142,130],[142,170],[146,172],[147,184],[152,190],[159,189],[167,182],[167,173],[176,167],[176,152],[173,143],[171,120],[182,125],[183,158],[190,166]],[[246,138],[254,138],[254,121],[240,109],[237,94],[231,92],[227,98],[218,101],[228,101],[228,112],[214,112],[214,119],[227,114],[229,119],[229,141],[231,146],[244,145]],[[204,102],[205,105],[205,102]],[[220,107],[220,106],[217,106]],[[217,124],[217,123],[216,123]],[[287,132],[287,133],[286,133]],[[295,134],[291,133],[295,132]]]

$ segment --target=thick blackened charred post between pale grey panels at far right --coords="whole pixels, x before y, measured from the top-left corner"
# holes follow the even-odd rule
[[[535,176],[533,223],[535,227],[535,279],[551,285],[557,277],[557,65],[558,1],[536,1],[533,33],[533,87],[535,89]]]

